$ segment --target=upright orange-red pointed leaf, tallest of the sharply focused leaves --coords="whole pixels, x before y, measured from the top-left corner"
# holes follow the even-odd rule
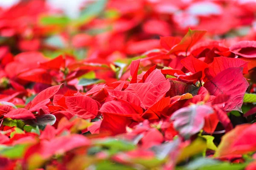
[[[183,37],[179,44],[172,47],[168,54],[184,51],[187,52],[189,49],[195,45],[206,33],[207,31],[191,30],[189,28],[188,33]]]

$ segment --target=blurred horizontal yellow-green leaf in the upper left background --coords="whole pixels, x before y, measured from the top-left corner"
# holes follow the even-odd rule
[[[44,16],[39,21],[42,25],[67,25],[70,19],[66,16]]]

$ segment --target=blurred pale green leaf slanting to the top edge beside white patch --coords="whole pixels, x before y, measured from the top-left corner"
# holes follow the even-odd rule
[[[87,6],[81,11],[81,16],[78,19],[79,23],[86,23],[98,16],[105,8],[107,0],[97,0],[95,3]]]

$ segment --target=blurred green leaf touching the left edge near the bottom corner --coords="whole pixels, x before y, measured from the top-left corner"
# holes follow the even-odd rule
[[[0,145],[0,156],[10,159],[22,158],[28,145],[29,144],[16,144],[12,147]]]

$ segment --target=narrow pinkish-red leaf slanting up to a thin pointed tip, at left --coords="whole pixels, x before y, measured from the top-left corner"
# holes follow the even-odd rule
[[[62,84],[61,84],[62,85]],[[58,92],[58,90],[61,88],[61,85],[55,85],[52,87],[49,87],[43,91],[41,91],[31,102],[30,108],[34,107],[37,105],[39,102],[45,99],[51,98],[54,94]]]

